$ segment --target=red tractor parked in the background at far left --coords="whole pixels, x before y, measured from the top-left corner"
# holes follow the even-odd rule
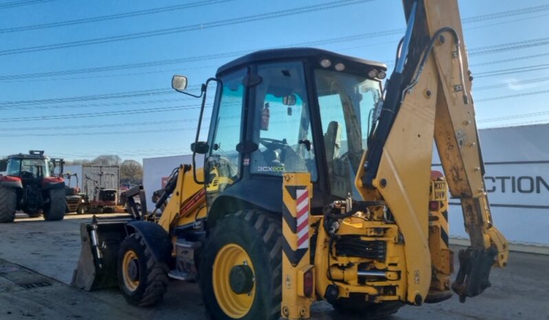
[[[50,221],[65,217],[65,182],[52,176],[55,161],[43,151],[30,150],[0,162],[0,222],[13,222],[17,210],[30,217],[43,214]]]

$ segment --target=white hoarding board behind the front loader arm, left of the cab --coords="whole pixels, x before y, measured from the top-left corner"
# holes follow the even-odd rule
[[[191,163],[193,163],[192,155],[143,159],[143,188],[147,196],[147,209],[149,211],[154,209],[154,203],[151,201],[153,192],[164,187],[166,179],[175,168],[179,168],[182,164]],[[203,155],[196,155],[196,165],[198,168],[202,168],[204,165]]]

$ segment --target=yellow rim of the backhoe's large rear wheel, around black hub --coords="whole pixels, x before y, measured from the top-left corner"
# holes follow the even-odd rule
[[[230,284],[230,272],[235,266],[248,266],[252,272],[252,288],[246,293],[235,293]],[[213,293],[217,304],[226,315],[240,319],[248,314],[255,298],[255,271],[250,256],[237,244],[226,244],[213,262]]]

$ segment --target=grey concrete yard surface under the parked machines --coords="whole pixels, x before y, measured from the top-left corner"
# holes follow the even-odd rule
[[[0,319],[208,319],[197,284],[171,281],[164,301],[153,308],[129,306],[117,289],[69,286],[80,253],[79,225],[91,215],[57,222],[23,217],[0,225]],[[549,320],[548,268],[548,255],[512,252],[507,268],[492,271],[492,287],[479,297],[465,304],[453,296],[440,304],[405,306],[387,319]],[[338,315],[325,302],[315,303],[312,314],[364,319]]]

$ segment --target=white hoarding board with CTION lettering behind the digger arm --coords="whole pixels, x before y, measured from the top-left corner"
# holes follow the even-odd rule
[[[494,224],[510,242],[549,246],[548,137],[549,124],[480,130]],[[469,238],[459,201],[450,203],[451,236]]]

